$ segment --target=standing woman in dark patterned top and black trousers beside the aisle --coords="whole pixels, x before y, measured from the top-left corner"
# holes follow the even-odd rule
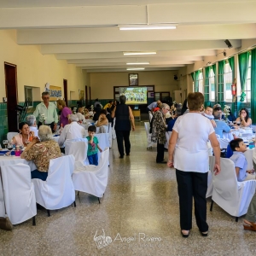
[[[163,103],[161,109],[156,111],[153,116],[151,141],[157,143],[156,162],[164,164],[165,143],[166,143],[166,113],[170,110],[169,105]]]

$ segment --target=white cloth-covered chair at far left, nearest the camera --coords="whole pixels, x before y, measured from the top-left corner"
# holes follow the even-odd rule
[[[30,167],[24,164],[1,167],[6,212],[12,224],[32,218],[36,224],[37,204]],[[1,197],[1,196],[0,196]]]

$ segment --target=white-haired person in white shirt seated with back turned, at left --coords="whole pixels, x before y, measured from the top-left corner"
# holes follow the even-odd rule
[[[77,115],[71,114],[68,119],[71,123],[69,125],[65,125],[63,131],[61,131],[61,136],[58,140],[60,147],[63,147],[66,140],[85,137],[84,127],[78,124]]]

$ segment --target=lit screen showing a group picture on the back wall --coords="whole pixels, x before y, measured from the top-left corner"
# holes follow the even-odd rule
[[[127,105],[147,104],[147,87],[119,87],[119,95],[125,95]]]

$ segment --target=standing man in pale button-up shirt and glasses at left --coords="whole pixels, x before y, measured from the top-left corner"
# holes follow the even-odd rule
[[[34,116],[38,119],[38,128],[40,125],[49,125],[52,132],[57,129],[58,114],[56,112],[56,107],[53,102],[49,102],[49,92],[44,91],[42,93],[43,102],[39,103],[36,110],[34,111]]]

